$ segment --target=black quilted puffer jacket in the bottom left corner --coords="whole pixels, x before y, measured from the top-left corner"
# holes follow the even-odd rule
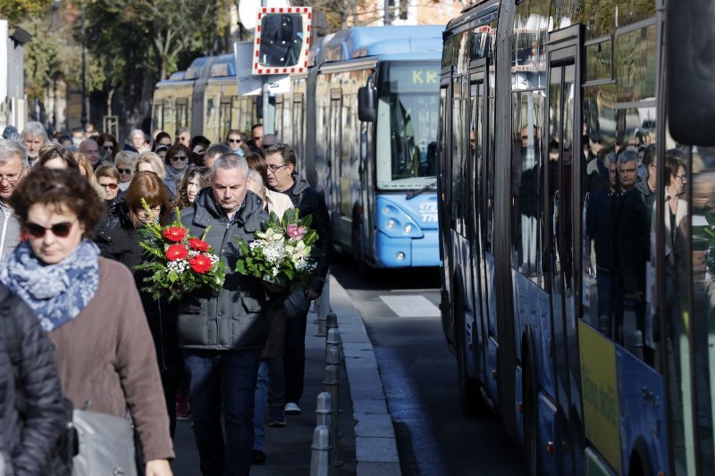
[[[0,450],[5,460],[5,474],[50,474],[51,453],[70,418],[52,343],[40,327],[37,315],[2,284],[0,305],[10,306],[17,338],[21,340],[20,378],[27,404],[23,422],[16,407],[9,347],[5,338],[0,338]],[[4,322],[0,322],[0,330],[5,337]]]

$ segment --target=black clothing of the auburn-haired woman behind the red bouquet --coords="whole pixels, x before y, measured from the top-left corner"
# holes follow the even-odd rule
[[[147,271],[134,271],[134,266],[143,261],[144,248],[139,246],[139,233],[130,220],[123,199],[107,211],[105,221],[97,231],[96,241],[102,256],[124,264],[134,273],[141,305],[147,314],[149,330],[154,338],[159,371],[163,378],[179,378],[183,361],[176,335],[176,305],[164,298],[157,301],[150,293],[142,290]]]

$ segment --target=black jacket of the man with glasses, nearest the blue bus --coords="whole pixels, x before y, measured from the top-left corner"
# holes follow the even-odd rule
[[[301,179],[297,173],[293,174],[295,186],[288,190],[290,201],[299,210],[299,217],[313,215],[311,228],[318,234],[315,243],[317,253],[315,254],[316,268],[315,276],[308,286],[320,294],[325,284],[325,276],[330,268],[330,255],[332,252],[332,226],[328,207],[325,205],[325,197],[322,193],[310,187],[306,180]]]

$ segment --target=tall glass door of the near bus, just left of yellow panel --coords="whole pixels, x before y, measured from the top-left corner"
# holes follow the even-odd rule
[[[557,428],[561,452],[559,473],[582,474],[581,397],[576,339],[576,272],[580,249],[581,102],[579,87],[579,27],[552,34],[549,44],[548,160],[543,166],[547,199],[546,283],[551,294],[553,364],[558,399]]]

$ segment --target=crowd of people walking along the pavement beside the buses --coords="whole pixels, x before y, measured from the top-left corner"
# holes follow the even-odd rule
[[[129,414],[138,472],[157,476],[181,457],[177,419],[192,420],[204,475],[244,475],[265,463],[265,422],[282,427],[301,412],[307,312],[332,248],[324,198],[299,177],[290,146],[260,125],[250,135],[230,130],[223,144],[185,128],[174,138],[133,130],[121,147],[90,124],[53,138],[38,122],[4,130],[0,309],[24,302],[11,316],[21,362],[7,342],[0,347],[0,365],[23,376],[0,378],[6,474],[55,473],[65,399]],[[313,216],[317,266],[308,287],[283,302],[275,297],[285,289],[233,271],[232,244],[291,208]],[[177,218],[226,264],[219,292],[170,302],[143,290],[139,231]]]

